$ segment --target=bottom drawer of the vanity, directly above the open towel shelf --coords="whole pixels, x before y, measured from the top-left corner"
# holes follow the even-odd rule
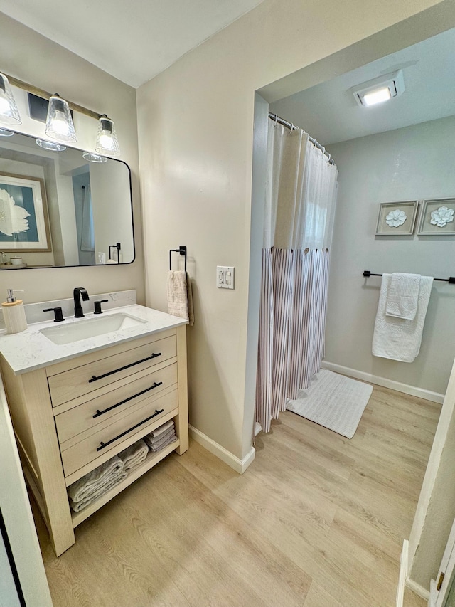
[[[177,390],[172,390],[161,398],[154,399],[151,403],[144,401],[143,406],[134,407],[129,415],[113,421],[109,426],[103,426],[94,433],[90,433],[90,431],[82,433],[78,443],[74,444],[74,439],[66,441],[68,448],[65,448],[66,443],[62,443],[60,452],[65,476],[73,474],[82,466],[96,460],[100,455],[109,453],[109,450],[112,450],[112,456],[119,453],[124,448],[123,441],[134,436],[137,436],[137,440],[139,440],[141,436],[147,434],[149,428],[159,426],[156,422],[160,418],[174,410],[177,415]],[[159,413],[156,413],[157,411]]]

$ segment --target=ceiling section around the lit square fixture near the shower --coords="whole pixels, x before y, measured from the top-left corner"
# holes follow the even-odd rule
[[[270,105],[323,145],[455,115],[455,30],[383,57]],[[402,69],[405,93],[360,107],[350,88]]]

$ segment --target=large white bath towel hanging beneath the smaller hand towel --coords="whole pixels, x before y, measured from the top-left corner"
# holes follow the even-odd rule
[[[373,334],[373,356],[412,362],[419,354],[433,278],[431,276],[420,278],[417,313],[413,320],[405,320],[385,314],[387,292],[391,278],[391,274],[382,275],[375,332]]]

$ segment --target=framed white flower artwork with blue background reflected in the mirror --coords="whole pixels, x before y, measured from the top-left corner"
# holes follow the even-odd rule
[[[51,250],[43,179],[0,173],[0,250]]]

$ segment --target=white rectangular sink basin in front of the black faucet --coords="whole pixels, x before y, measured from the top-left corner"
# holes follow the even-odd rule
[[[51,342],[54,342],[54,344],[61,346],[63,344],[80,342],[82,339],[129,329],[129,327],[137,327],[144,323],[146,323],[146,320],[122,312],[97,318],[80,319],[77,322],[68,324],[62,322],[58,324],[58,327],[41,329],[40,333],[50,339]]]

